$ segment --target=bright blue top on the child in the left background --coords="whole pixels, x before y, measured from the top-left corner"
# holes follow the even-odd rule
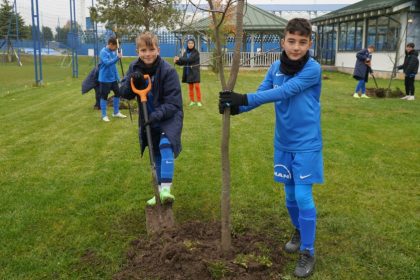
[[[112,83],[119,81],[120,76],[118,75],[117,67],[115,65],[119,60],[117,54],[105,47],[99,53],[99,59],[99,82]]]

